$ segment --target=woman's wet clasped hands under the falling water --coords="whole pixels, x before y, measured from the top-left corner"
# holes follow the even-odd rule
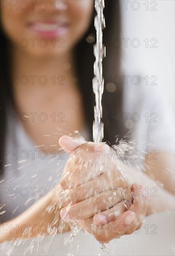
[[[60,182],[65,189],[62,219],[79,220],[78,225],[100,242],[139,229],[147,210],[144,187],[131,184],[132,173],[126,174],[123,163],[111,159],[112,149],[81,137],[63,136],[59,143],[71,153]]]

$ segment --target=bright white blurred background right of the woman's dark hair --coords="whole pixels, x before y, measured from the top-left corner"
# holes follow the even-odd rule
[[[123,0],[121,10],[123,73],[159,87],[174,111],[175,1]]]

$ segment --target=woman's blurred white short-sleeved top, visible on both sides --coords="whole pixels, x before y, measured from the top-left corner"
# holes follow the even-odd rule
[[[157,86],[127,85],[124,88],[123,114],[131,129],[130,140],[136,149],[174,151],[172,113]],[[21,123],[8,121],[5,168],[1,175],[0,222],[18,216],[58,184],[69,154],[53,159],[39,153]],[[17,156],[12,155],[17,153]],[[153,152],[154,153],[154,152]]]

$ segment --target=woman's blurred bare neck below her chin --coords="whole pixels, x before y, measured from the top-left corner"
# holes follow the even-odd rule
[[[42,88],[42,90],[49,89],[52,91],[51,87],[57,88],[52,85],[58,85],[59,87],[60,81],[64,84],[72,84],[73,79],[75,79],[72,52],[59,57],[36,58],[14,50],[12,56],[14,86],[17,85],[18,81],[18,84],[27,88],[27,90]]]

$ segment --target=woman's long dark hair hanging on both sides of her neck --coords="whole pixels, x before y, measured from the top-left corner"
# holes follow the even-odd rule
[[[114,41],[120,38],[120,9],[119,0],[105,0],[104,17],[106,28],[103,31],[103,41],[106,46],[106,58],[103,60],[103,76],[104,76],[104,94],[103,104],[103,121],[104,121],[104,141],[108,141],[110,145],[116,143],[117,138],[121,139],[126,133],[122,121],[112,119],[114,113],[122,113],[122,84],[117,85],[115,92],[111,93],[106,89],[106,85],[111,82],[115,75],[120,75],[120,47],[116,47]],[[94,11],[94,15],[96,15]],[[93,65],[95,57],[93,54],[93,43],[89,43],[87,37],[90,34],[96,36],[94,27],[94,17],[92,17],[91,25],[81,41],[76,46],[76,67],[78,75],[78,84],[80,92],[83,96],[85,119],[92,140],[92,123],[94,120],[95,96],[92,90],[92,78],[94,77]],[[96,39],[95,39],[96,40]],[[15,108],[13,100],[13,87],[11,80],[10,54],[8,50],[8,39],[0,27],[0,44],[1,44],[1,61],[0,68],[0,170],[3,169],[2,152],[5,150],[5,134],[6,122],[4,121],[4,113],[7,112],[8,104],[12,104]]]

